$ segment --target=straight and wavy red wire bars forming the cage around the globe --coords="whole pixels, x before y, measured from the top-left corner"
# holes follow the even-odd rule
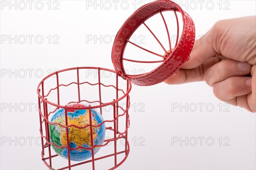
[[[94,69],[96,71],[98,71],[98,74],[97,74],[97,77],[98,77],[98,82],[95,83],[95,84],[92,84],[90,82],[80,82],[80,76],[79,76],[79,71],[80,70],[84,70],[84,69]],[[67,72],[67,71],[72,71],[72,70],[76,70],[76,76],[77,76],[77,82],[71,82],[67,85],[64,85],[64,84],[59,84],[59,75],[60,73],[62,72]],[[100,75],[100,71],[109,71],[113,74],[115,74],[116,76],[116,83],[114,85],[105,85],[101,82],[101,75]],[[45,88],[44,88],[44,83],[47,79],[49,79],[50,77],[56,77],[56,87],[55,88],[51,88],[48,92],[47,92],[47,95],[45,95]],[[116,71],[113,71],[113,70],[110,70],[110,69],[106,69],[106,68],[95,68],[95,67],[77,67],[77,68],[69,68],[69,69],[65,69],[65,70],[61,70],[61,71],[57,71],[55,73],[52,73],[50,74],[49,76],[47,76],[46,78],[44,78],[40,84],[38,85],[38,110],[39,110],[39,121],[40,121],[40,134],[41,134],[41,143],[42,143],[42,152],[41,152],[41,157],[42,157],[42,160],[44,161],[44,164],[46,164],[46,166],[50,169],[50,170],[64,170],[64,169],[68,169],[68,170],[71,170],[72,167],[76,167],[76,166],[79,166],[79,165],[82,165],[82,164],[87,164],[87,163],[91,163],[92,164],[92,169],[95,170],[95,161],[97,160],[100,160],[100,159],[105,159],[105,158],[108,158],[108,157],[111,157],[113,156],[114,157],[114,162],[113,162],[113,167],[110,168],[110,170],[113,170],[115,169],[116,167],[119,167],[128,157],[128,154],[129,154],[129,151],[130,151],[130,146],[129,146],[129,143],[128,143],[128,127],[130,126],[130,122],[129,122],[129,114],[128,114],[128,110],[130,108],[130,97],[129,97],[129,93],[131,91],[131,82],[129,79],[122,79],[122,81],[126,81],[126,89],[120,89],[119,88],[119,81],[120,79],[118,78],[118,74],[116,73]],[[95,106],[92,106],[92,105],[89,105],[87,107],[70,107],[70,106],[61,106],[60,105],[60,87],[61,86],[64,86],[64,87],[68,87],[72,84],[76,84],[77,85],[77,98],[78,98],[78,103],[80,102],[87,102],[87,103],[99,103],[98,105],[95,105]],[[80,96],[80,85],[82,84],[88,84],[90,86],[96,86],[98,85],[98,91],[99,91],[99,100],[98,101],[87,101],[87,100],[81,100],[81,96]],[[109,102],[109,103],[102,103],[102,91],[101,91],[101,88],[102,86],[104,86],[105,88],[115,88],[115,91],[116,91],[116,99],[113,99],[112,102]],[[52,103],[50,101],[47,100],[47,97],[51,94],[52,91],[55,91],[57,90],[57,101],[58,101],[58,104],[55,104],[55,103]],[[122,96],[119,97],[119,91],[122,92]],[[118,102],[122,99],[126,99],[126,107],[125,108],[122,108]],[[70,102],[70,103],[77,103],[77,102]],[[68,103],[68,104],[70,104]],[[43,108],[41,108],[41,104],[43,104]],[[54,111],[52,112],[48,112],[48,105],[51,105],[51,106],[55,106],[56,108],[54,109]],[[101,124],[99,125],[93,125],[92,124],[92,111],[91,109],[96,109],[96,108],[99,108],[100,109],[100,114],[102,114],[102,108],[105,107],[105,106],[108,106],[108,105],[112,105],[113,106],[113,119],[111,120],[105,120],[103,121]],[[63,108],[64,109],[64,112],[65,112],[65,125],[61,125],[59,123],[51,123],[49,121],[49,116],[54,113],[55,111],[57,111],[59,108]],[[67,110],[68,109],[76,109],[76,110],[83,110],[83,109],[88,109],[89,110],[89,119],[90,119],[90,124],[89,125],[86,125],[84,127],[78,127],[76,125],[68,125],[68,117],[67,117]],[[119,109],[120,111],[122,111],[122,113],[119,113]],[[119,125],[119,117],[121,116],[124,116],[125,117],[125,131],[124,132],[119,132],[119,129],[118,127],[119,126],[122,126],[122,125]],[[113,127],[106,127],[106,130],[111,130],[113,131],[113,138],[112,139],[105,139],[104,140],[104,144],[98,144],[98,145],[94,145],[93,144],[93,128],[94,127],[100,127],[103,123],[106,123],[106,122],[113,122]],[[44,124],[44,126],[43,126]],[[61,147],[58,147],[56,146],[54,143],[52,143],[50,141],[50,133],[49,133],[49,125],[58,125],[62,128],[65,128],[66,129],[66,139],[67,139],[67,145],[65,146],[61,146]],[[123,125],[124,126],[124,125]],[[86,128],[86,127],[90,127],[90,140],[91,140],[91,147],[76,147],[76,148],[71,148],[70,147],[70,139],[69,139],[69,133],[68,133],[68,128],[69,127],[77,127],[79,129],[83,129],[83,128]],[[45,132],[45,134],[44,134]],[[123,151],[120,151],[120,152],[117,152],[117,148],[116,148],[116,142],[119,140],[119,139],[125,139],[125,148]],[[105,155],[105,156],[101,156],[101,157],[98,157],[98,158],[95,158],[94,156],[94,148],[95,147],[111,147],[111,146],[107,146],[109,142],[114,142],[114,150],[113,150],[113,153],[112,154],[108,154],[108,155]],[[52,161],[53,161],[53,158],[57,157],[58,154],[55,154],[55,155],[52,155],[52,152],[51,152],[51,146],[54,146],[58,149],[60,148],[67,148],[67,166],[65,167],[61,167],[61,168],[58,168],[58,169],[55,169],[55,167],[52,166]],[[48,148],[48,150],[47,150]],[[82,149],[86,149],[86,150],[90,150],[91,151],[91,154],[92,154],[92,157],[90,160],[86,160],[86,161],[82,161],[82,162],[79,162],[79,163],[76,163],[76,164],[72,164],[71,161],[70,161],[70,150],[76,150],[76,149],[79,149],[79,148],[82,148]],[[45,153],[46,151],[48,151],[48,154],[49,156],[45,157]],[[119,154],[122,154],[124,153],[124,157],[122,159],[122,161],[117,161],[117,155]]]

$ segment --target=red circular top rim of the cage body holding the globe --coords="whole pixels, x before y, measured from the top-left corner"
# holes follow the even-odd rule
[[[49,74],[47,77],[45,77],[43,80],[41,80],[41,82],[39,83],[38,85],[38,88],[37,88],[37,94],[38,94],[38,97],[43,100],[44,102],[48,103],[49,105],[52,105],[52,106],[55,106],[57,108],[63,108],[63,109],[70,109],[70,108],[76,108],[76,107],[71,107],[71,106],[63,106],[63,105],[58,105],[58,104],[55,104],[55,103],[52,103],[52,102],[49,102],[49,100],[47,100],[47,98],[43,97],[40,93],[41,93],[41,88],[42,88],[42,84],[44,83],[45,80],[47,80],[49,77],[52,77],[58,73],[62,73],[62,72],[65,72],[65,71],[71,71],[71,70],[76,70],[76,69],[100,69],[100,70],[105,70],[105,71],[110,71],[114,74],[116,74],[116,76],[119,76],[117,74],[117,72],[115,70],[111,70],[111,69],[108,69],[108,68],[101,68],[101,67],[74,67],[74,68],[67,68],[67,69],[63,69],[63,70],[59,70],[59,71],[56,71],[52,74]],[[99,74],[98,74],[99,75]],[[102,108],[102,107],[105,107],[105,106],[108,106],[108,105],[113,105],[114,103],[116,102],[119,102],[120,100],[124,99],[125,97],[127,97],[130,92],[131,92],[131,80],[128,79],[128,77],[122,77],[124,80],[127,81],[128,83],[128,89],[126,91],[126,93],[122,96],[122,97],[119,97],[119,99],[115,99],[113,100],[112,102],[108,102],[108,103],[104,103],[104,104],[100,104],[100,105],[96,105],[96,106],[86,106],[86,107],[81,107],[79,109],[81,110],[87,110],[87,109],[96,109],[96,108]],[[114,86],[114,85],[113,85]],[[115,86],[114,86],[115,87]],[[116,87],[115,87],[116,88]],[[77,109],[77,108],[76,108]]]

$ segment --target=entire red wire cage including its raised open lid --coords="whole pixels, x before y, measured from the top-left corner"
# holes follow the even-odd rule
[[[171,37],[169,33],[169,28],[167,26],[166,20],[163,16],[165,11],[172,11],[175,14],[176,24],[177,24],[177,40],[172,47],[171,44]],[[183,30],[179,31],[179,21],[177,17],[177,12],[181,14],[183,20]],[[156,34],[153,33],[152,29],[145,23],[149,18],[154,15],[160,15],[161,20],[166,28],[168,44],[166,45],[167,48],[160,42],[157,38]],[[161,55],[159,53],[155,53],[152,50],[148,50],[143,48],[142,46],[131,42],[131,36],[134,32],[140,27],[145,26],[145,28],[151,33],[155,40],[157,40],[158,44],[163,49],[163,53],[166,55]],[[179,34],[181,33],[181,37],[179,38]],[[46,166],[51,170],[64,170],[64,169],[71,169],[72,167],[76,166],[84,166],[84,164],[92,164],[89,169],[96,169],[95,161],[105,160],[107,158],[113,157],[112,165],[109,169],[115,169],[119,167],[127,158],[130,147],[128,142],[128,127],[130,125],[129,122],[129,114],[128,110],[130,108],[130,98],[129,93],[131,91],[131,82],[135,85],[141,86],[148,86],[148,85],[155,85],[160,82],[163,82],[165,79],[171,77],[175,74],[181,66],[189,59],[189,54],[192,51],[192,47],[195,42],[195,25],[191,19],[191,17],[183,11],[180,6],[176,3],[173,3],[170,0],[157,0],[152,3],[148,3],[145,6],[141,7],[131,17],[126,20],[123,26],[120,28],[119,32],[116,35],[116,38],[113,43],[112,49],[112,62],[115,68],[115,71],[106,69],[106,68],[95,68],[95,67],[78,67],[78,68],[70,68],[61,71],[57,71],[53,74],[50,74],[46,78],[44,78],[40,84],[38,85],[38,108],[39,108],[39,117],[40,117],[40,133],[41,133],[41,142],[42,142],[42,160],[46,164]],[[148,52],[148,54],[153,54],[156,57],[160,57],[159,60],[156,61],[142,61],[140,59],[128,59],[125,57],[125,49],[127,45],[131,44],[137,47],[140,50]],[[167,50],[168,49],[168,50]],[[131,75],[125,71],[124,62],[132,62],[132,63],[160,63],[160,65],[152,71],[149,71],[145,74],[140,75]],[[93,79],[84,79],[82,74],[86,71],[93,70],[96,72],[94,74]],[[114,79],[108,79],[105,83],[102,77],[102,71],[108,72],[114,75]],[[73,72],[73,75],[67,74],[63,76],[64,73]],[[60,78],[65,77],[67,80],[70,80],[72,77],[73,81],[63,81]],[[121,78],[120,78],[121,77]],[[87,78],[87,77],[86,77]],[[52,82],[52,83],[49,83]],[[65,82],[65,83],[62,83]],[[121,85],[122,84],[122,85]],[[47,87],[48,85],[48,87]],[[74,86],[75,88],[73,92],[67,90],[67,88]],[[84,85],[87,85],[85,87]],[[89,100],[91,95],[84,95],[84,89],[90,92],[91,89],[96,88],[96,91],[91,94],[95,96],[97,94],[97,99]],[[103,93],[103,89],[112,89],[107,90],[109,93]],[[54,95],[55,93],[55,95]],[[66,94],[66,95],[65,95]],[[75,98],[70,98],[70,94],[76,94]],[[112,95],[111,95],[112,94]],[[68,96],[68,97],[67,97]],[[103,99],[106,96],[111,96],[112,98]],[[68,98],[68,100],[65,100]],[[121,102],[124,101],[125,105],[121,105]],[[68,104],[70,103],[80,103],[80,102],[87,102],[90,105],[86,107],[70,107]],[[49,106],[53,107],[51,111],[49,110]],[[106,113],[104,111],[104,107],[110,106],[112,108],[111,113]],[[52,116],[55,111],[58,109],[65,110],[65,125],[61,125],[58,123],[51,123],[49,118]],[[90,127],[90,139],[92,141],[91,147],[77,147],[72,148],[69,146],[69,136],[68,136],[68,129],[72,126],[77,127],[76,125],[68,125],[67,121],[67,110],[68,109],[80,109],[80,110],[89,110],[89,117],[90,117],[90,125],[86,125],[85,127],[78,127],[79,129],[88,128]],[[99,109],[100,114],[105,117],[105,121],[102,122],[100,125],[92,125],[92,109]],[[123,118],[123,121],[121,119]],[[106,124],[106,131],[111,132],[113,135],[110,139],[105,139],[103,144],[94,145],[93,144],[93,133],[92,128],[99,127],[102,124]],[[107,126],[108,124],[108,126]],[[64,167],[56,168],[55,164],[53,164],[53,160],[58,158],[58,154],[52,154],[51,147],[59,148],[50,140],[50,133],[49,133],[49,125],[58,125],[64,129],[66,129],[67,133],[67,146],[62,146],[67,149],[68,151],[68,159],[67,165]],[[118,150],[117,142],[120,140],[125,140],[125,144],[122,147],[122,150]],[[113,147],[109,146],[108,144],[113,142]],[[93,149],[95,147],[111,147],[113,149],[112,153],[106,153],[104,155],[98,156],[94,155]],[[91,159],[81,161],[79,163],[71,162],[70,160],[70,150],[76,150],[79,148],[83,148],[86,150],[91,150]],[[96,157],[98,156],[98,157]],[[118,157],[122,156],[122,157]],[[83,167],[84,168],[84,167]],[[106,169],[105,167],[104,169]]]

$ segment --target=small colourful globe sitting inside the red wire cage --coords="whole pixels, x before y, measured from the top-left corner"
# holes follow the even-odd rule
[[[68,106],[72,107],[86,107],[81,103],[73,103]],[[91,110],[92,113],[92,125],[99,125],[104,120],[102,115],[96,112],[95,110]],[[67,110],[68,116],[68,125],[76,125],[78,127],[84,127],[90,124],[89,110]],[[58,109],[50,119],[51,123],[59,123],[61,125],[66,125],[65,121],[65,110]],[[79,129],[78,127],[70,126],[68,128],[69,133],[69,141],[71,148],[75,149],[76,147],[91,147],[91,137],[90,137],[90,126],[85,127],[83,129]],[[105,123],[103,123],[99,127],[92,127],[93,129],[93,144],[99,145],[104,143],[105,139]],[[67,146],[67,133],[66,128],[63,128],[59,125],[49,125],[50,130],[50,141],[54,143],[56,146]],[[65,158],[68,159],[67,148],[63,147],[61,149],[52,145],[53,150],[55,152]],[[94,154],[99,151],[100,147],[94,147]],[[79,148],[76,150],[70,150],[70,160],[73,161],[83,161],[85,159],[89,159],[92,156],[91,150]]]

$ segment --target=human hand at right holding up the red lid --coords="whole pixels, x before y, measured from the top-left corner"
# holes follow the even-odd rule
[[[218,99],[256,112],[256,16],[218,21],[190,57],[167,84],[205,81]]]

